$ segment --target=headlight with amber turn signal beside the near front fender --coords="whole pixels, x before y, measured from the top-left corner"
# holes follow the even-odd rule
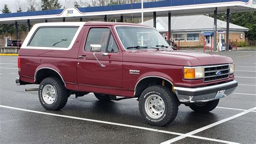
[[[184,79],[204,78],[204,67],[184,67]]]

